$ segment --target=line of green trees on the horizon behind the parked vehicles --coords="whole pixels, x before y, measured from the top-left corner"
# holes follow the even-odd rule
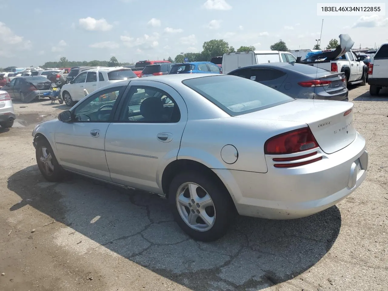
[[[339,45],[338,40],[333,38],[329,41],[326,49],[335,49]],[[171,57],[167,58],[167,61],[170,62],[184,62],[184,58],[188,58],[190,62],[198,62],[198,61],[210,61],[212,57],[217,57],[219,55],[223,55],[226,52],[243,52],[247,50],[256,50],[256,48],[251,46],[241,46],[237,50],[234,49],[228,42],[225,40],[209,40],[208,42],[204,42],[202,46],[202,52],[186,52],[181,53],[175,56],[175,59]],[[289,51],[286,43],[283,40],[279,40],[270,46],[271,50],[279,50],[282,52]],[[314,50],[320,50],[320,46],[317,43],[313,47]],[[166,60],[166,59],[163,59]],[[114,66],[126,66],[133,65],[130,62],[118,62],[116,57],[111,57],[109,61],[69,61],[66,57],[61,57],[58,62],[45,62],[41,67],[42,68],[71,68],[76,66],[106,66],[106,67],[114,67]]]

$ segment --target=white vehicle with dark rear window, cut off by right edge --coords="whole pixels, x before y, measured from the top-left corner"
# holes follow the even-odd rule
[[[388,42],[383,43],[369,64],[369,93],[378,95],[381,88],[388,87]]]

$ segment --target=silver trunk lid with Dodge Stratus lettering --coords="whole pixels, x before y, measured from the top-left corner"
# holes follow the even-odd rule
[[[239,118],[297,121],[310,127],[322,151],[339,151],[353,142],[357,132],[353,126],[352,102],[296,99]],[[345,112],[352,111],[344,116]]]

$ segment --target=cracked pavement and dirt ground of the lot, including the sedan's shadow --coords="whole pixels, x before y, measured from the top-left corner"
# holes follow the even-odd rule
[[[45,182],[31,131],[67,107],[15,101],[0,129],[0,290],[387,290],[388,93],[350,99],[369,151],[361,187],[308,218],[239,217],[213,243],[189,239],[157,196]]]

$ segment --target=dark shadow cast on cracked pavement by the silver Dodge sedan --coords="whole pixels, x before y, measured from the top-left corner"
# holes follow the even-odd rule
[[[167,201],[148,192],[72,174],[49,183],[37,166],[10,176],[8,189],[22,199],[10,211],[30,205],[66,225],[52,234],[53,244],[83,256],[112,251],[193,290],[260,290],[288,281],[319,262],[341,227],[336,206],[296,220],[237,217],[225,237],[204,243],[182,232]]]

